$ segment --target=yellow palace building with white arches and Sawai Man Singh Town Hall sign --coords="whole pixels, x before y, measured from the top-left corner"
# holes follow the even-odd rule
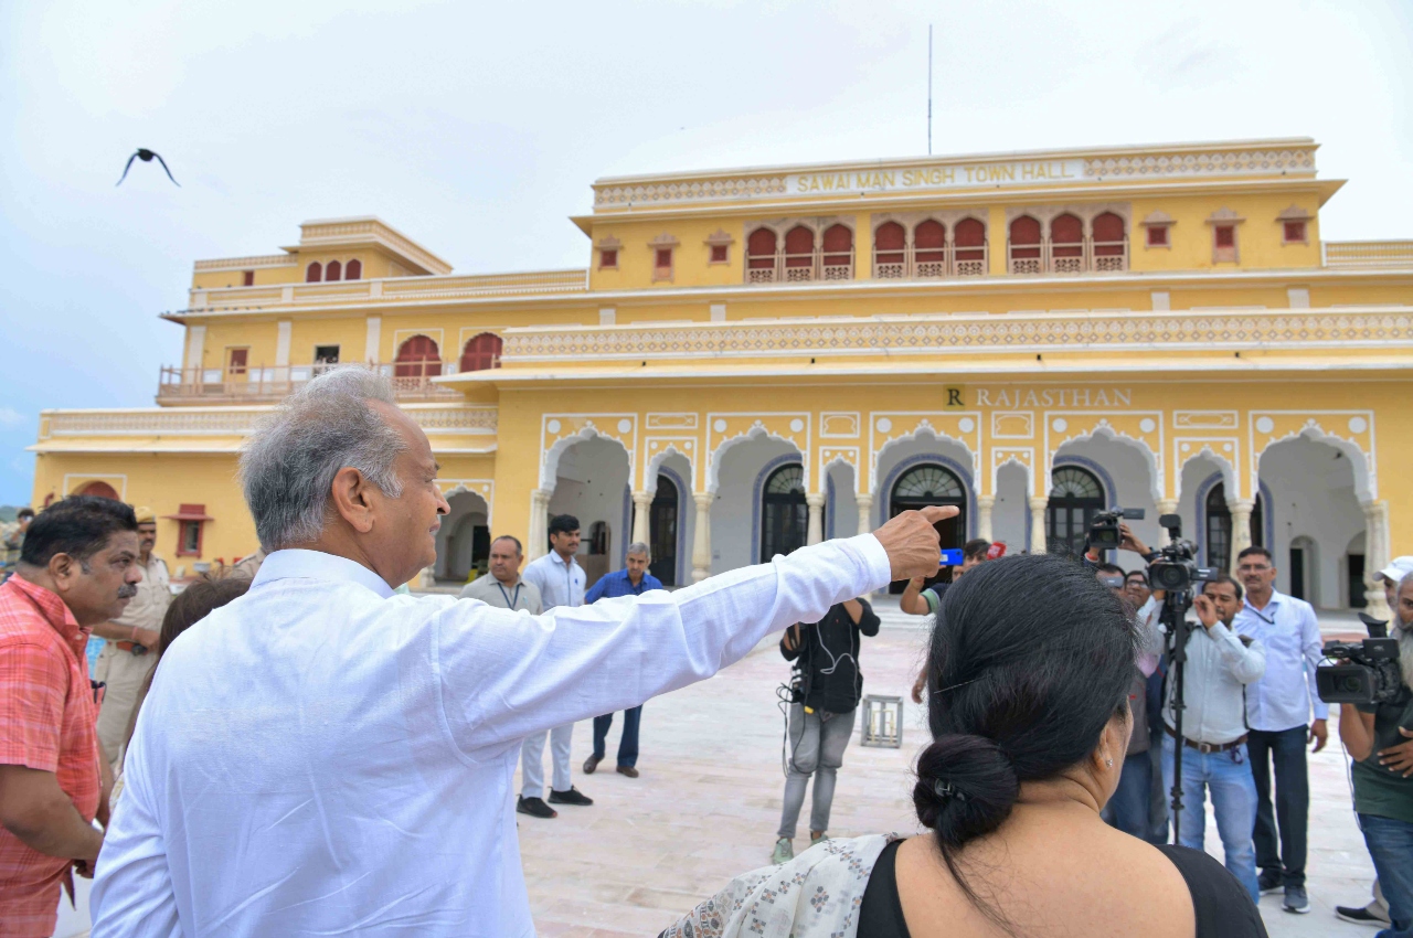
[[[1323,242],[1308,138],[605,178],[586,270],[461,275],[376,218],[195,263],[157,407],[41,418],[35,503],[150,504],[174,566],[256,550],[261,412],[389,374],[452,506],[434,571],[572,513],[591,578],[673,585],[951,503],[947,531],[1072,551],[1111,506],[1201,559],[1382,609],[1413,552],[1413,242]],[[1381,468],[1383,472],[1381,472]],[[1382,487],[1381,476],[1385,479]],[[1132,558],[1130,558],[1132,559]]]

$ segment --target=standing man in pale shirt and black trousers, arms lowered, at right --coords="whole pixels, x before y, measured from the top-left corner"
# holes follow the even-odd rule
[[[1246,600],[1234,627],[1266,648],[1266,672],[1246,688],[1252,777],[1256,780],[1256,865],[1260,891],[1284,891],[1284,908],[1308,913],[1306,833],[1310,824],[1310,776],[1306,743],[1324,749],[1330,706],[1316,689],[1316,667],[1324,658],[1320,624],[1310,603],[1276,590],[1276,566],[1265,547],[1236,555],[1236,576]],[[1310,711],[1314,709],[1314,722]],[[1272,809],[1270,776],[1276,798]],[[1279,841],[1277,841],[1279,824]]]

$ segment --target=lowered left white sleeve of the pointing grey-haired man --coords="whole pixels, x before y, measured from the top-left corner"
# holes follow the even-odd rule
[[[181,938],[182,934],[167,846],[144,771],[143,729],[140,718],[124,761],[123,794],[97,855],[89,897],[92,938]]]

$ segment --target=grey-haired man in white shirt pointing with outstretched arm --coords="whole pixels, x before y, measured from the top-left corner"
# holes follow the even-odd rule
[[[907,511],[673,593],[543,616],[394,596],[432,564],[437,461],[373,372],[322,374],[252,435],[270,555],[162,657],[97,860],[93,938],[534,934],[520,740],[711,677],[764,636],[937,568]]]

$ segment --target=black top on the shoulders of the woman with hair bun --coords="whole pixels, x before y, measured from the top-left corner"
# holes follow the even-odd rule
[[[903,903],[897,898],[897,848],[893,841],[869,876],[859,907],[859,938],[911,938],[903,921]],[[1201,850],[1186,846],[1160,846],[1177,872],[1187,880],[1197,914],[1197,938],[1266,938],[1260,913],[1246,889],[1226,867]]]

